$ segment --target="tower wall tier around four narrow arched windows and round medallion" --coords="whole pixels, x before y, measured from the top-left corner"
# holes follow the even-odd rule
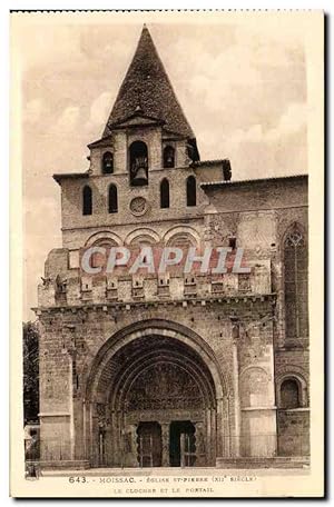
[[[127,175],[105,175],[104,177],[80,177],[62,180],[62,230],[63,246],[75,242],[73,237],[79,229],[94,233],[99,228],[112,228],[116,232],[125,225],[138,227],[151,222],[186,221],[200,217],[200,210],[207,202],[198,187],[198,207],[186,206],[186,180],[194,171],[184,169],[161,169],[153,171],[147,187],[130,187]],[[170,208],[160,209],[160,182],[169,179]],[[108,213],[108,188],[114,183],[118,188],[118,212]],[[82,189],[89,185],[92,190],[92,215],[82,216]],[[146,211],[136,216],[131,212],[132,199],[141,197],[146,200]],[[67,230],[69,230],[67,232]],[[81,245],[80,245],[81,246]],[[79,245],[78,245],[79,247]]]

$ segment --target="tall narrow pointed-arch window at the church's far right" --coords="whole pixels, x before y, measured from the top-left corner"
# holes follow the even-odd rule
[[[284,241],[285,327],[287,338],[308,335],[307,247],[297,226]]]

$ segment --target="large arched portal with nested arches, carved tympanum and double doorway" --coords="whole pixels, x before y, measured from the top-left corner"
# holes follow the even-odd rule
[[[87,388],[91,466],[215,466],[227,436],[218,408],[224,388],[206,354],[154,327],[111,338]]]

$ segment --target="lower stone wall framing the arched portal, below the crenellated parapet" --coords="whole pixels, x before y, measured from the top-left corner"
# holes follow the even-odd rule
[[[263,348],[262,354],[256,356],[250,351],[248,356],[245,355],[244,337],[238,338],[235,344],[233,342],[232,317],[234,316],[237,316],[242,329],[247,329],[257,322],[258,332],[256,331],[256,337],[254,336],[252,339],[255,340],[256,349]],[[105,306],[85,309],[69,307],[62,310],[55,308],[55,310],[41,311],[42,349],[40,364],[43,428],[41,438],[48,437],[49,427],[52,439],[58,434],[61,435],[62,441],[66,436],[69,440],[72,436],[77,443],[73,450],[75,458],[84,459],[82,439],[86,437],[82,426],[82,402],[91,365],[98,351],[109,339],[112,339],[117,331],[127,329],[140,321],[144,325],[147,321],[149,327],[150,320],[158,319],[164,322],[163,327],[166,326],[166,328],[168,328],[169,322],[185,326],[200,336],[213,350],[226,382],[225,396],[228,396],[228,424],[232,435],[229,453],[247,454],[248,448],[243,447],[239,450],[237,440],[240,431],[243,438],[245,435],[250,437],[252,433],[255,431],[255,427],[249,428],[248,426],[248,414],[245,409],[252,408],[262,415],[265,408],[272,424],[268,428],[264,428],[264,434],[269,433],[272,437],[272,429],[275,426],[272,395],[274,370],[271,349],[273,349],[273,345],[269,345],[269,331],[264,331],[261,327],[263,316],[267,316],[268,320],[271,319],[272,304],[269,300],[212,301],[204,306],[196,301],[188,301],[187,305],[185,301],[180,301],[178,305],[170,301],[155,306],[135,304],[121,307]],[[151,344],[154,347],[154,337]],[[236,354],[234,354],[234,348]],[[242,372],[243,378],[247,379],[248,374],[245,369],[249,366],[255,367],[255,371],[257,371],[256,368],[259,368],[264,372],[267,387],[264,389],[261,399],[256,398],[256,392],[250,394],[247,406],[243,405],[243,411],[239,412],[239,399],[244,400],[245,397],[249,396],[246,392],[249,382],[246,380],[238,384],[237,378]],[[254,418],[254,412],[252,417]],[[73,421],[76,426],[75,436],[71,434]],[[259,437],[265,438],[263,435],[258,435],[258,430],[255,436],[257,440]],[[220,438],[219,446],[226,445]],[[269,447],[266,448],[266,453],[269,455],[275,453],[275,447],[273,445],[271,447],[272,450],[268,450]],[[257,453],[255,448],[253,451]],[[56,459],[57,453],[59,453],[58,447],[55,450]]]

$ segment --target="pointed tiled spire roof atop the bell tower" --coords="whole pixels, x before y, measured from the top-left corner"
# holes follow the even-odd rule
[[[168,131],[195,139],[146,24],[104,136],[109,133],[109,125],[132,115],[138,105],[145,115],[164,120]]]

